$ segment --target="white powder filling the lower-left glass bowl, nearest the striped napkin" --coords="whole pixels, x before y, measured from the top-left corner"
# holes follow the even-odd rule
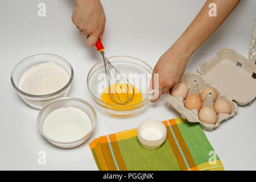
[[[59,142],[73,142],[92,129],[88,115],[76,107],[63,107],[50,113],[43,124],[47,137]]]

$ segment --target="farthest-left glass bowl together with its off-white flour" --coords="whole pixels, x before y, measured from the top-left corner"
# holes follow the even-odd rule
[[[68,95],[73,76],[71,64],[63,57],[42,53],[19,61],[11,73],[11,84],[26,104],[42,109]]]

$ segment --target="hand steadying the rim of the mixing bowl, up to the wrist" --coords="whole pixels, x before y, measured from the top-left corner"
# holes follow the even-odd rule
[[[157,81],[154,80],[154,74],[159,73],[159,92],[155,100],[151,102],[156,102],[161,94],[169,92],[169,89],[177,84],[185,72],[187,61],[190,55],[186,53],[179,46],[172,46],[168,51],[166,51],[156,63],[150,83],[150,90],[154,90]]]

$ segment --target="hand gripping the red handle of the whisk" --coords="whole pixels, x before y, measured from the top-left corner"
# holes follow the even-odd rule
[[[81,35],[87,35],[87,46],[95,46],[98,38],[102,40],[106,22],[100,0],[76,0],[72,22],[80,29]]]

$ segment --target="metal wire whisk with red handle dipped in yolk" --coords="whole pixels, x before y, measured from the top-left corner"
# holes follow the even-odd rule
[[[115,102],[115,104],[124,105],[129,103],[134,97],[133,85],[131,85],[130,81],[106,58],[100,38],[97,40],[95,46],[98,49],[98,52],[101,53],[104,61],[106,82],[108,85],[110,99]],[[121,94],[126,97],[121,98]]]

